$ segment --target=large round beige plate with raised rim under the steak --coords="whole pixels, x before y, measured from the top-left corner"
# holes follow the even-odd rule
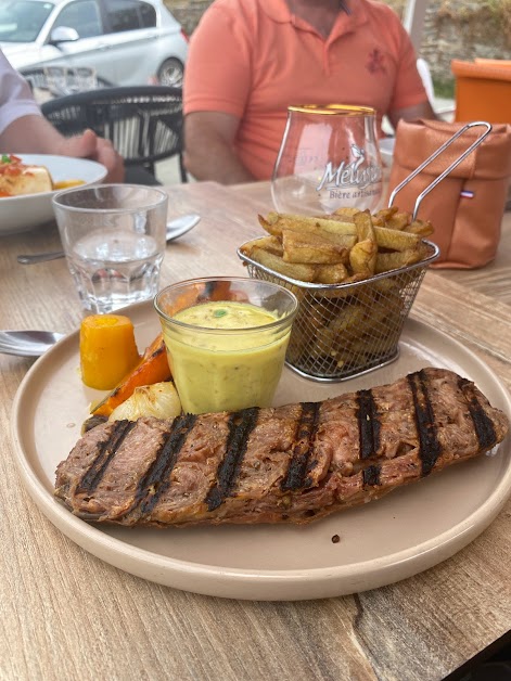
[[[130,308],[140,348],[158,332],[152,306]],[[506,388],[457,342],[407,322],[399,359],[342,384],[318,384],[286,370],[276,404],[319,400],[394,381],[425,365],[473,381],[511,414]],[[33,499],[67,537],[107,563],[152,581],[197,593],[253,600],[301,600],[373,589],[422,571],[472,541],[511,490],[511,444],[380,501],[305,527],[108,528],[85,523],[52,496],[58,463],[79,437],[98,393],[81,384],[78,333],[40,358],[17,391],[12,419],[16,462]],[[332,542],[338,535],[340,541]]]

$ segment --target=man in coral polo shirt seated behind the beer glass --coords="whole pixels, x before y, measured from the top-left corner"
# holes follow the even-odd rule
[[[408,34],[374,0],[216,0],[190,44],[186,164],[226,184],[271,177],[291,104],[434,118]]]

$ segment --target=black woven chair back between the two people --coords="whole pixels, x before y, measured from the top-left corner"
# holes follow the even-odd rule
[[[65,136],[90,128],[112,141],[125,166],[155,177],[155,163],[179,156],[182,162],[182,91],[167,86],[101,88],[44,102],[46,118]]]

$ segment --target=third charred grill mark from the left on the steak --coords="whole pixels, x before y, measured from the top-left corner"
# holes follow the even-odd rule
[[[248,437],[257,424],[258,415],[258,407],[231,414],[228,423],[226,453],[218,465],[216,481],[205,499],[208,511],[218,509],[234,487],[248,446]]]

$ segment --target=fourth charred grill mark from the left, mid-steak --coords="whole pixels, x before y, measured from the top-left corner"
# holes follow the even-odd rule
[[[309,460],[314,449],[314,439],[319,425],[320,402],[302,402],[302,412],[296,425],[295,444],[285,478],[281,483],[283,491],[292,491],[302,487],[310,487],[307,476]],[[312,463],[312,462],[311,462]]]

